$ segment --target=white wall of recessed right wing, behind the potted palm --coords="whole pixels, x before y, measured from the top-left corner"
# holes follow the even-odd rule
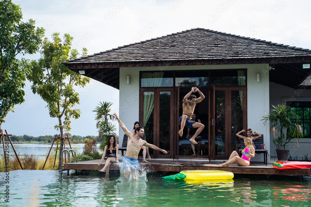
[[[286,101],[311,101],[311,90],[310,89],[293,89],[286,86],[282,86],[277,83],[270,83],[270,104],[273,106],[277,106],[278,104],[283,104],[286,106]],[[272,109],[270,105],[270,109]],[[271,137],[271,153],[274,156],[276,146],[272,142]],[[299,141],[298,148],[296,148],[296,143],[290,142],[288,149],[290,150],[291,157],[303,157],[308,154],[310,158],[310,147],[311,140],[310,139],[302,139]]]

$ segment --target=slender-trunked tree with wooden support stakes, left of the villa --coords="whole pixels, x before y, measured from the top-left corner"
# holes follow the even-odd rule
[[[31,61],[32,69],[27,78],[33,82],[31,89],[33,93],[38,93],[47,103],[50,117],[57,118],[60,136],[63,137],[63,130],[69,132],[70,118],[78,119],[80,110],[73,109],[79,104],[79,94],[74,91],[73,86],[84,87],[90,79],[79,75],[66,68],[62,62],[77,58],[79,53],[76,49],[71,49],[72,37],[64,34],[63,43],[59,38],[59,33],[52,34],[53,42],[45,38],[41,47],[41,58],[38,61]],[[69,52],[70,56],[69,56]],[[83,48],[82,56],[86,55],[86,48]],[[65,116],[64,121],[62,120]],[[63,143],[60,142],[60,152],[63,151]],[[59,153],[58,169],[61,169],[62,154]]]

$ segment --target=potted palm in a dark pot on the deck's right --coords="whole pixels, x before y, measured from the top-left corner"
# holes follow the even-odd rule
[[[272,107],[270,115],[263,116],[264,119],[262,120],[264,120],[264,125],[270,121],[270,134],[273,134],[272,141],[276,146],[277,159],[279,161],[287,160],[289,155],[288,143],[295,139],[298,146],[299,138],[303,138],[303,133],[297,124],[299,119],[292,107],[285,107],[283,104],[272,105]]]

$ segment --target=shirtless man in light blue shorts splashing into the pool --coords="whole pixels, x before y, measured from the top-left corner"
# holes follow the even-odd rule
[[[141,139],[141,137],[144,136],[144,128],[143,127],[137,127],[135,129],[136,135],[134,135],[132,132],[128,131],[128,129],[124,126],[124,124],[120,121],[118,118],[118,115],[114,113],[114,117],[118,120],[118,123],[120,127],[123,129],[124,133],[128,136],[128,144],[126,146],[126,154],[123,159],[124,163],[124,179],[128,178],[129,176],[129,170],[134,172],[136,171],[136,176],[138,178],[138,170],[139,170],[139,164],[138,164],[138,153],[142,146],[150,147],[154,150],[159,150],[163,152],[164,154],[167,154],[165,150],[160,149],[159,147],[147,143],[145,140]]]

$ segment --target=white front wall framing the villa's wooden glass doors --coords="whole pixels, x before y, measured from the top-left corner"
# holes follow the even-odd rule
[[[248,128],[264,134],[265,148],[269,151],[270,142],[266,141],[269,137],[267,136],[269,126],[264,127],[263,122],[260,121],[265,112],[269,111],[269,76],[265,73],[265,67],[265,64],[245,64],[120,68],[119,118],[130,131],[134,122],[139,119],[139,71],[247,69]],[[257,73],[260,73],[259,82],[257,82]],[[127,75],[131,77],[130,84],[127,84]],[[123,130],[119,128],[119,146],[122,145],[123,135]],[[258,159],[262,161],[262,156]]]

